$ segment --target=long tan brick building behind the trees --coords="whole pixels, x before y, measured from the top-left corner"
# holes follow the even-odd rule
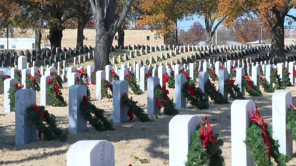
[[[155,32],[151,32],[151,30],[125,30],[124,31],[124,45],[128,44],[144,44],[144,45],[160,45],[164,44],[164,40],[162,39],[155,39],[154,34]],[[50,48],[50,41],[48,40],[49,30],[45,29],[42,31],[42,38],[41,38],[41,48]],[[84,45],[91,45],[94,46],[96,44],[96,30],[95,29],[84,29],[83,35],[85,39],[83,40]],[[21,30],[19,28],[13,28],[13,34],[11,35],[13,38],[33,38],[35,39],[35,31],[34,29],[26,29]],[[0,38],[1,39],[1,38]],[[116,32],[115,37],[113,39],[112,45],[118,45],[118,34]],[[61,47],[66,48],[74,48],[76,47],[76,40],[77,40],[77,29],[65,29],[63,30],[63,37]],[[15,45],[15,48],[9,49],[18,49],[19,46],[15,43],[8,42],[9,45]],[[35,41],[32,41],[32,48],[35,47]],[[3,40],[2,45],[4,45],[4,49],[7,49],[7,40]],[[32,49],[27,48],[27,49]],[[23,48],[22,48],[23,49]]]

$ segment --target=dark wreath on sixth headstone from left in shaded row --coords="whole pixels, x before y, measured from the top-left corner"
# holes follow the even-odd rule
[[[211,83],[210,79],[208,79],[207,82],[205,83],[205,92],[217,104],[227,104],[228,103],[228,100],[225,97],[223,97],[222,94],[216,90],[216,87],[214,86],[213,83]]]

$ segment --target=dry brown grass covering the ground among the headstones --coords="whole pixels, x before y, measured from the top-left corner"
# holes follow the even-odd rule
[[[186,55],[187,53],[184,53]],[[159,53],[160,55],[160,53]],[[150,54],[146,55],[150,56]],[[73,58],[72,58],[73,59]],[[144,58],[143,58],[144,59]],[[175,57],[174,57],[175,59]],[[85,63],[86,64],[86,63]],[[83,64],[84,65],[84,64]],[[86,66],[85,66],[86,67]],[[215,82],[216,87],[217,82]],[[92,103],[98,108],[105,110],[105,116],[112,119],[112,100],[94,100],[95,86],[90,85]],[[175,90],[169,90],[169,97],[174,97]],[[262,89],[262,87],[261,87]],[[296,90],[295,84],[284,91]],[[62,95],[68,101],[68,88],[64,84]],[[294,105],[296,104],[296,92],[291,92]],[[40,104],[40,93],[37,92],[37,104]],[[129,95],[139,102],[145,111],[147,105],[147,92],[142,95]],[[272,125],[271,119],[271,96],[272,93],[263,93],[263,97],[250,97],[246,95],[245,99],[250,99],[258,105],[260,115]],[[168,146],[168,123],[173,116],[159,115],[149,116],[151,122],[141,123],[137,118],[131,123],[113,123],[115,131],[98,132],[92,126],[87,126],[87,131],[80,134],[69,134],[66,142],[59,141],[37,141],[31,144],[15,147],[15,113],[4,113],[3,94],[0,95],[0,165],[66,165],[66,152],[72,144],[79,140],[108,140],[115,146],[115,165],[127,166],[130,163],[133,166],[141,165],[133,159],[133,155],[140,158],[150,159],[150,163],[144,165],[168,165],[169,146]],[[223,156],[226,165],[231,165],[231,117],[229,104],[217,105],[210,100],[210,106],[207,110],[199,110],[190,104],[187,108],[180,109],[180,114],[199,115],[202,119],[207,116],[210,119],[212,129],[220,132],[220,137],[224,140]],[[56,115],[57,124],[63,131],[68,130],[68,107],[56,108],[46,106],[46,109]],[[162,112],[162,111],[161,111]],[[215,121],[215,119],[217,121]],[[214,121],[213,121],[214,120]],[[293,141],[293,153],[295,156],[296,144]],[[296,158],[289,161],[288,165],[296,165]]]

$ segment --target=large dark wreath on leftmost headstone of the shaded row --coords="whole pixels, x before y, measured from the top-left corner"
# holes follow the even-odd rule
[[[26,109],[34,126],[38,129],[38,137],[41,140],[41,133],[44,135],[45,141],[59,140],[66,141],[67,135],[57,128],[56,117],[49,114],[44,106],[37,106],[35,103]],[[45,124],[43,123],[45,122]]]

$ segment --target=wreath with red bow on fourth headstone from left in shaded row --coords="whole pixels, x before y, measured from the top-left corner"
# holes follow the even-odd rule
[[[157,107],[160,110],[163,105],[163,112],[166,115],[176,115],[179,113],[179,111],[175,108],[175,103],[173,102],[173,99],[170,99],[168,97],[168,93],[169,92],[165,88],[165,86],[161,87],[160,84],[157,84],[154,89],[154,97],[157,99]]]

